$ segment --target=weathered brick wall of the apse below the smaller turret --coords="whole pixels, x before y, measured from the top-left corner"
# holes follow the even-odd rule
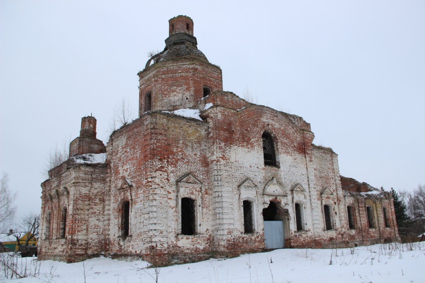
[[[106,167],[74,165],[41,184],[39,259],[68,262],[98,255],[106,250],[104,203]],[[60,237],[66,208],[66,233]],[[46,216],[50,211],[50,233],[45,235]]]

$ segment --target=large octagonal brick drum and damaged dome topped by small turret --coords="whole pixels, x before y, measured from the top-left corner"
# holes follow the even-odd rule
[[[139,116],[147,111],[194,107],[222,90],[221,69],[197,48],[193,21],[179,15],[168,21],[165,48],[153,55],[139,76]]]

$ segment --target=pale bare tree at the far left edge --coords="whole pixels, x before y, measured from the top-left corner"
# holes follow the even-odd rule
[[[9,190],[9,177],[3,173],[0,179],[0,233],[5,233],[10,228],[16,207],[14,200],[16,193]]]

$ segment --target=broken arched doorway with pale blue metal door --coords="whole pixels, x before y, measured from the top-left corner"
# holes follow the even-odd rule
[[[264,220],[264,243],[265,249],[281,249],[284,247],[289,213],[287,209],[280,207],[280,202],[270,201],[268,207],[262,210]]]

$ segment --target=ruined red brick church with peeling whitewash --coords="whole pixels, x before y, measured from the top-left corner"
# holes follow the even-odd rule
[[[168,28],[138,73],[139,117],[106,146],[83,117],[41,184],[39,259],[166,265],[398,239],[389,193],[340,176],[301,117],[223,91],[189,17]]]

